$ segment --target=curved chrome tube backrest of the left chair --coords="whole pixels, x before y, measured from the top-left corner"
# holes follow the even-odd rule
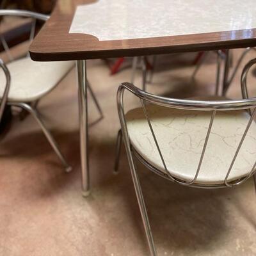
[[[24,11],[24,10],[0,10],[0,17],[4,17],[4,16],[15,16],[15,17],[28,17],[31,19],[31,22],[29,22],[28,24],[24,24],[24,26],[30,26],[30,31],[29,32],[29,42],[32,42],[33,38],[35,37],[35,33],[36,33],[36,21],[37,20],[47,20],[49,19],[49,16],[44,15],[44,14],[40,14],[40,13],[35,13],[35,12],[29,12],[29,11]],[[1,19],[3,20],[3,19]],[[28,28],[24,29],[24,31],[26,31]],[[10,61],[13,61],[13,56],[11,54],[10,51],[10,47],[6,41],[6,35],[8,35],[8,33],[3,33],[3,31],[0,31],[0,43],[3,45],[3,49],[6,52],[8,59]],[[27,56],[29,56],[27,54]]]

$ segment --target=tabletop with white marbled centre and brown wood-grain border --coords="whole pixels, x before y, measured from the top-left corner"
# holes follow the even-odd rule
[[[253,47],[255,13],[255,0],[59,0],[29,52],[58,61]]]

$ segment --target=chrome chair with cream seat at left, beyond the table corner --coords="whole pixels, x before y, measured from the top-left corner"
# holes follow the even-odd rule
[[[49,16],[40,13],[28,12],[22,10],[0,10],[0,17],[4,15],[12,15],[19,17],[29,17],[33,21],[31,23],[31,31],[29,40],[33,40],[35,35],[36,20],[47,20]],[[53,62],[36,62],[32,61],[29,56],[24,56],[18,60],[13,60],[11,51],[1,34],[1,42],[10,60],[5,64],[0,60],[0,67],[3,72],[0,72],[0,122],[6,105],[15,106],[30,113],[40,125],[47,140],[51,144],[54,152],[59,157],[65,170],[69,172],[72,168],[67,163],[60,152],[60,149],[51,135],[51,132],[45,127],[40,118],[36,106],[38,101],[51,92],[58,83],[68,74],[74,67],[73,61],[53,61]],[[5,84],[5,85],[4,85]],[[100,115],[102,111],[99,107],[92,88],[89,88],[95,104],[99,109]]]

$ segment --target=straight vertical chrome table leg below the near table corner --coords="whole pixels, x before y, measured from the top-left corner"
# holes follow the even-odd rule
[[[79,129],[80,129],[80,154],[82,171],[83,196],[90,194],[90,175],[88,157],[88,109],[87,109],[87,79],[86,61],[77,61],[78,101],[79,101]]]

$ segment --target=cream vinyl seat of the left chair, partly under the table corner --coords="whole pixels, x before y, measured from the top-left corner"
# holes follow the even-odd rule
[[[30,58],[12,61],[7,65],[11,74],[11,86],[8,101],[32,102],[50,92],[67,72],[74,66],[74,61],[37,62]],[[0,97],[6,79],[0,72]]]

